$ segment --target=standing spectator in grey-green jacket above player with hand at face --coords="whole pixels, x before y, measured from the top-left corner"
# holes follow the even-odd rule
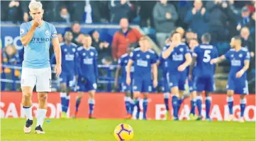
[[[155,20],[155,30],[157,32],[157,43],[162,49],[162,47],[165,46],[165,39],[167,39],[169,33],[175,29],[178,14],[174,5],[168,4],[167,0],[160,0],[155,4],[153,17]]]

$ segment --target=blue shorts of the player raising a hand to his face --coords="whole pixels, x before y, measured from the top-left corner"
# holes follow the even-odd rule
[[[186,73],[167,73],[167,79],[170,88],[179,87],[179,90],[185,90]]]

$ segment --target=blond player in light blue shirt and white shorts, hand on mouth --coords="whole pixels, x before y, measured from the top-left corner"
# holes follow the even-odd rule
[[[51,68],[49,48],[52,43],[56,56],[55,71],[61,73],[61,51],[55,27],[43,19],[43,8],[39,1],[32,0],[29,4],[32,21],[22,23],[20,27],[21,43],[24,45],[22,63],[21,89],[22,105],[27,118],[24,133],[30,133],[33,124],[32,94],[36,85],[38,92],[38,111],[35,133],[43,134],[43,121],[47,112],[47,97],[51,91]]]

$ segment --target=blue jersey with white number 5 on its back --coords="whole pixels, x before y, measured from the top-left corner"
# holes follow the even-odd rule
[[[218,57],[218,50],[211,44],[200,44],[194,48],[193,56],[196,56],[196,76],[214,75],[215,65],[210,63],[211,59]]]

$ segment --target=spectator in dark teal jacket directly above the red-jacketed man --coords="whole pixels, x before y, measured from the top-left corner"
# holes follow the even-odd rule
[[[130,14],[130,2],[127,0],[109,1],[108,7],[110,9],[110,22],[118,23],[121,18],[128,18]]]

